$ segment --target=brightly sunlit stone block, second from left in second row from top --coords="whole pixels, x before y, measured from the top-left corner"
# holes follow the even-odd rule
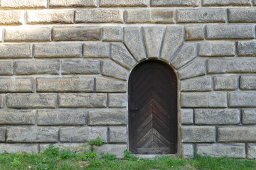
[[[27,23],[74,23],[72,10],[27,11]]]

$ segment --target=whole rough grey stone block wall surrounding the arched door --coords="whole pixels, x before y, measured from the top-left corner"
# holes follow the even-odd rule
[[[127,83],[178,77],[178,154],[256,158],[256,1],[1,0],[0,152],[127,149]]]

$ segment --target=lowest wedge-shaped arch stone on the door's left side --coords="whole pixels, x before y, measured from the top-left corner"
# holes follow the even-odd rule
[[[112,60],[102,62],[102,75],[127,80],[129,71]]]

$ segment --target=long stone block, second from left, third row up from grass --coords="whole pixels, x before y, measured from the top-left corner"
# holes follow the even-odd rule
[[[85,112],[80,110],[43,110],[36,118],[37,125],[85,125]]]

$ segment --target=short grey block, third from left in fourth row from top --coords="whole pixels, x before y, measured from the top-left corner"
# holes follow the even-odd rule
[[[110,43],[87,42],[83,47],[85,58],[108,58],[110,57]]]

